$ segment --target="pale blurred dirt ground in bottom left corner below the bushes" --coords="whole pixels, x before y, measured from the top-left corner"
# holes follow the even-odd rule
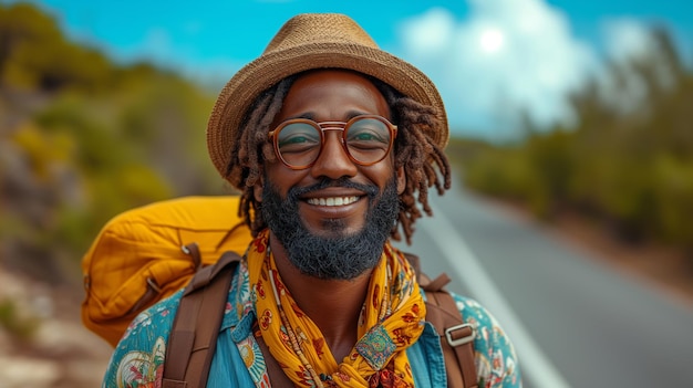
[[[13,301],[12,333],[0,326],[0,388],[93,388],[101,386],[111,346],[80,321],[82,293],[45,284],[0,268],[0,303]],[[25,339],[18,336],[35,324]]]

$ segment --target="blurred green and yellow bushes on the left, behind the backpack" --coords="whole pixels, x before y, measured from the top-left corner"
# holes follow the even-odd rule
[[[206,156],[213,103],[175,73],[69,41],[33,6],[0,3],[0,263],[79,281],[114,214],[228,192]]]

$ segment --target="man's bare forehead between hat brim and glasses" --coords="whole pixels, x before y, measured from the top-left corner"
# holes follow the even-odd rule
[[[358,114],[390,118],[390,107],[366,76],[346,70],[327,69],[300,74],[289,88],[279,116],[344,119]]]

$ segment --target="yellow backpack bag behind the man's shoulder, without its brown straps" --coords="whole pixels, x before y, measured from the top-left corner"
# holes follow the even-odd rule
[[[82,260],[84,326],[115,346],[142,310],[183,289],[199,266],[226,251],[242,255],[251,235],[237,216],[238,201],[185,197],[108,221]],[[199,259],[189,252],[195,245]]]

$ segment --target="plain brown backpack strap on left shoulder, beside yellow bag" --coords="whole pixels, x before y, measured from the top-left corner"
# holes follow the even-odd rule
[[[199,269],[185,287],[166,347],[162,388],[207,385],[232,273],[239,261],[236,252],[227,251],[214,265]]]

